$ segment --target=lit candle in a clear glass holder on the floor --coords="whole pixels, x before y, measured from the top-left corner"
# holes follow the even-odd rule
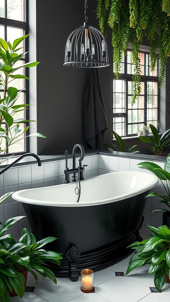
[[[91,293],[93,291],[93,271],[91,269],[83,269],[81,271],[81,291],[83,293]]]

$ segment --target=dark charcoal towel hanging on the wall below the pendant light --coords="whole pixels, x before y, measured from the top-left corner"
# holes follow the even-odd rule
[[[90,70],[83,97],[84,138],[88,148],[103,149],[108,123],[97,68]]]

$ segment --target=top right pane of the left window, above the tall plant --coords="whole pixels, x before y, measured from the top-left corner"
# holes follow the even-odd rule
[[[7,0],[7,18],[25,20],[25,1],[24,0]]]

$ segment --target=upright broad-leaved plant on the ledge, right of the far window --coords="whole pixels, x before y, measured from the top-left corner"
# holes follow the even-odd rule
[[[151,128],[153,137],[142,135],[139,136],[139,139],[144,143],[151,143],[153,145],[153,147],[150,147],[151,151],[154,152],[155,155],[161,156],[163,149],[170,145],[170,129],[166,130],[159,139],[159,132],[156,127],[152,124],[150,124],[149,127]]]

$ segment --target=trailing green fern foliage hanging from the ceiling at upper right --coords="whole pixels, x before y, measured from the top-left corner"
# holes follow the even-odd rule
[[[132,42],[132,62],[135,64],[132,105],[141,92],[140,45],[146,36],[150,43],[150,69],[155,70],[159,53],[159,87],[165,78],[165,65],[170,56],[169,0],[98,0],[97,18],[100,30],[107,37],[112,28],[115,76],[120,76],[122,55]]]

